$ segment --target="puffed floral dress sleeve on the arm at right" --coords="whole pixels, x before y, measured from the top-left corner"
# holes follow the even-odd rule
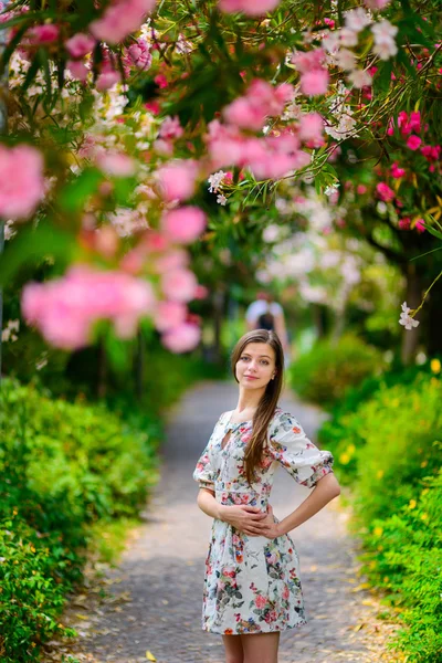
[[[313,488],[333,472],[334,457],[329,451],[319,450],[305,434],[299,422],[288,412],[276,412],[270,424],[269,451],[293,478]]]

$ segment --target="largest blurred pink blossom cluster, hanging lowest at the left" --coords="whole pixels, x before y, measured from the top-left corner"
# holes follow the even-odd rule
[[[87,265],[71,267],[62,278],[28,284],[22,295],[28,323],[53,346],[65,349],[87,345],[98,319],[112,320],[117,336],[128,338],[154,305],[154,292],[146,281]]]

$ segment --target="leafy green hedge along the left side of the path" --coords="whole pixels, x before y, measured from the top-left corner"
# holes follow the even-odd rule
[[[0,428],[0,655],[28,663],[66,634],[57,615],[82,578],[92,526],[144,506],[158,441],[146,417],[141,432],[103,406],[13,381],[2,386]]]

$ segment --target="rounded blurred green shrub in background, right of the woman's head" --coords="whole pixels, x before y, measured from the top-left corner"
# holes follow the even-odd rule
[[[383,367],[379,350],[347,335],[337,344],[316,344],[291,366],[288,379],[301,397],[329,408],[344,398],[349,387],[381,372]]]

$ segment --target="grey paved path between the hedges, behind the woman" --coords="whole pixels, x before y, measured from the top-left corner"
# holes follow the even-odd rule
[[[149,651],[158,663],[223,663],[221,636],[200,629],[211,520],[196,505],[191,475],[218,417],[235,404],[234,383],[203,382],[172,413],[146,524],[131,537],[120,566],[106,573],[110,599],[95,608],[82,599],[76,603],[82,638],[69,652],[78,660],[139,663]],[[290,393],[281,404],[315,438],[318,410]],[[280,470],[271,499],[275,514],[284,517],[308,492]],[[386,625],[376,620],[379,604],[357,576],[357,544],[346,532],[348,516],[339,502],[292,533],[309,623],[282,634],[280,663],[400,660],[382,646]]]

